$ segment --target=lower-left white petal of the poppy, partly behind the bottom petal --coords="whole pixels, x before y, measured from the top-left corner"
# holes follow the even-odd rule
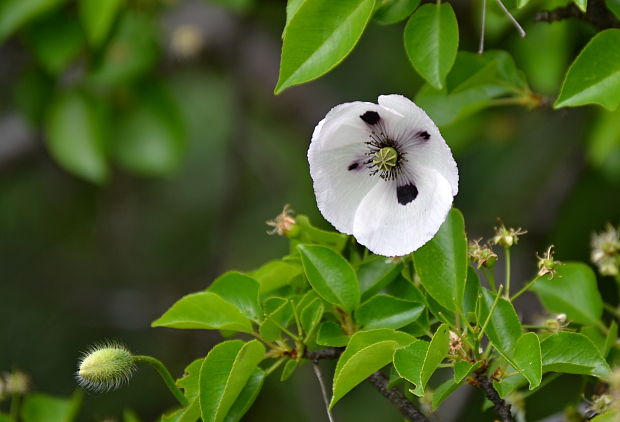
[[[364,168],[349,170],[349,166],[365,158],[366,145],[356,142],[329,152],[320,151],[318,142],[310,144],[308,161],[314,181],[319,210],[340,232],[353,234],[353,220],[360,202],[379,182]]]

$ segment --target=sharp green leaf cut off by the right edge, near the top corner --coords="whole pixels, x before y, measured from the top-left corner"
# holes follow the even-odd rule
[[[571,64],[554,108],[620,103],[620,29],[596,34]]]

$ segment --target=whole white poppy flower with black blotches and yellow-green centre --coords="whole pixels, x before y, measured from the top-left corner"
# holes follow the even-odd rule
[[[428,242],[458,191],[439,129],[402,95],[334,107],[314,129],[308,160],[323,216],[379,255]]]

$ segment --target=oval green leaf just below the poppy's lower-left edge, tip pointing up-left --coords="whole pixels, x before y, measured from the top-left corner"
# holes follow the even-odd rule
[[[360,303],[357,275],[341,255],[318,245],[299,245],[306,277],[327,302],[351,312]]]

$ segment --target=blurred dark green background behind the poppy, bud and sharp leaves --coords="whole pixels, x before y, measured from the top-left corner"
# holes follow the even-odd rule
[[[119,0],[107,14],[78,3],[0,1],[0,372],[19,368],[60,396],[76,387],[80,352],[104,339],[175,375],[204,356],[218,338],[150,322],[218,274],[285,254],[265,225],[285,203],[329,227],[306,162],[315,124],[336,104],[413,98],[422,85],[404,24],[371,23],[329,75],[275,97],[283,0]],[[475,51],[480,5],[453,6],[461,46]],[[520,39],[489,13],[488,48],[509,50],[535,92],[557,95],[592,28],[534,23],[526,10]],[[549,243],[560,260],[587,261],[590,233],[619,222],[619,122],[595,107],[504,107],[442,128],[470,237],[491,236],[497,217],[529,231],[514,253],[519,282]],[[616,297],[611,281],[601,287]],[[533,296],[517,306],[536,317]],[[463,403],[445,405],[446,420],[463,420]],[[144,369],[119,391],[87,394],[80,420],[131,408],[151,421],[173,405]],[[335,415],[400,420],[366,385]],[[274,418],[325,419],[309,368],[270,380],[247,416]]]

